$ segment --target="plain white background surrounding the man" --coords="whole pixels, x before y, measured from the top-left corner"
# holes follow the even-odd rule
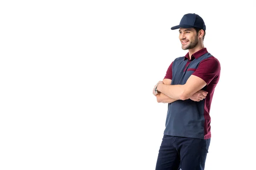
[[[199,14],[221,63],[206,170],[256,169],[255,2],[0,1],[0,170],[154,170],[152,94]]]

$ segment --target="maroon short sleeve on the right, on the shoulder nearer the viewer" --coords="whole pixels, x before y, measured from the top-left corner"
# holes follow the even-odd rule
[[[212,79],[219,76],[220,71],[221,65],[218,59],[209,57],[199,63],[198,68],[192,75],[200,77],[207,83],[207,85],[209,85]]]

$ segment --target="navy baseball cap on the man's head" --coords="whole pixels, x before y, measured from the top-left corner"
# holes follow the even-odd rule
[[[200,28],[206,30],[206,26],[204,24],[204,20],[198,14],[185,14],[181,20],[180,25],[174,26],[171,29],[178,28]]]

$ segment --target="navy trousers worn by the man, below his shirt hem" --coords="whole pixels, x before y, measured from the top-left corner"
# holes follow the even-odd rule
[[[204,170],[210,139],[163,136],[156,170]]]

